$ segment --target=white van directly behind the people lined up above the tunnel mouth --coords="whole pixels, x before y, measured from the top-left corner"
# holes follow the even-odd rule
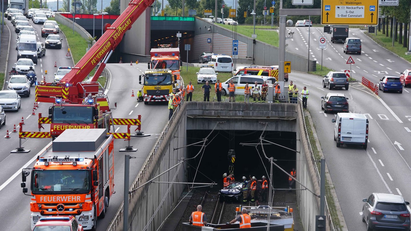
[[[251,87],[255,85],[255,81],[257,81],[257,85],[259,85],[260,89],[264,81],[267,81],[267,84],[269,86],[275,83],[275,77],[272,77],[272,76],[261,76],[261,75],[251,75],[251,74],[236,75],[228,79],[224,83],[222,83],[223,95],[226,95],[229,92],[229,83],[231,79],[233,80],[234,85],[236,85],[236,91],[235,91],[236,95],[244,95],[244,87],[246,83],[248,83],[248,86],[250,87],[250,91],[251,91]]]

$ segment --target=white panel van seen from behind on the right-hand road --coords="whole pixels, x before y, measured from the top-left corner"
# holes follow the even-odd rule
[[[342,144],[359,144],[367,149],[368,119],[358,113],[337,113],[331,120],[334,125],[334,140],[337,147]]]

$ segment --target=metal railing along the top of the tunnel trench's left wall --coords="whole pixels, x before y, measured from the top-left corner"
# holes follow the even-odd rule
[[[159,136],[159,138],[157,139],[157,142],[154,144],[153,148],[151,149],[150,154],[148,155],[147,159],[145,159],[145,162],[144,162],[143,166],[141,167],[139,175],[137,175],[136,180],[134,180],[134,182],[132,183],[132,187],[129,190],[134,191],[134,189],[136,189],[137,187],[140,186],[141,180],[144,178],[145,173],[147,172],[147,169],[150,166],[150,164],[152,164],[154,156],[157,155],[157,150],[160,147],[160,145],[162,144],[162,142],[164,141],[164,137],[166,136],[167,132],[169,131],[170,127],[172,126],[173,121],[178,119],[178,118],[176,118],[177,117],[176,115],[177,115],[178,111],[180,111],[181,106],[183,104],[184,104],[184,100],[181,101],[180,106],[178,106],[175,109],[175,111],[173,113],[173,116],[171,116],[171,119],[169,120],[169,122],[166,124],[166,126],[164,126],[164,129],[161,132],[161,135]],[[131,198],[133,198],[135,194],[136,194],[136,191],[129,194],[129,201],[131,201]],[[120,224],[120,222],[122,222],[123,209],[124,209],[124,201],[121,204],[121,206],[118,209],[115,216],[113,217],[113,220],[112,220],[110,226],[107,228],[107,231],[116,231],[117,230],[117,226]],[[123,227],[123,230],[124,230],[124,227]]]

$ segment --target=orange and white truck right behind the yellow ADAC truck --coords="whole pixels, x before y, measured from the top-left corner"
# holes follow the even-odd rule
[[[180,49],[152,48],[150,50],[150,55],[151,60],[147,63],[148,69],[170,69],[173,76],[177,76],[176,88],[180,88],[180,69],[182,66],[182,61],[180,60]]]

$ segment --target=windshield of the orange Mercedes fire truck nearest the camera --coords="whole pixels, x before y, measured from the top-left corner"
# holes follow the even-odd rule
[[[84,192],[90,190],[90,174],[85,170],[32,171],[31,191],[42,194]],[[58,192],[58,193],[56,193]]]

